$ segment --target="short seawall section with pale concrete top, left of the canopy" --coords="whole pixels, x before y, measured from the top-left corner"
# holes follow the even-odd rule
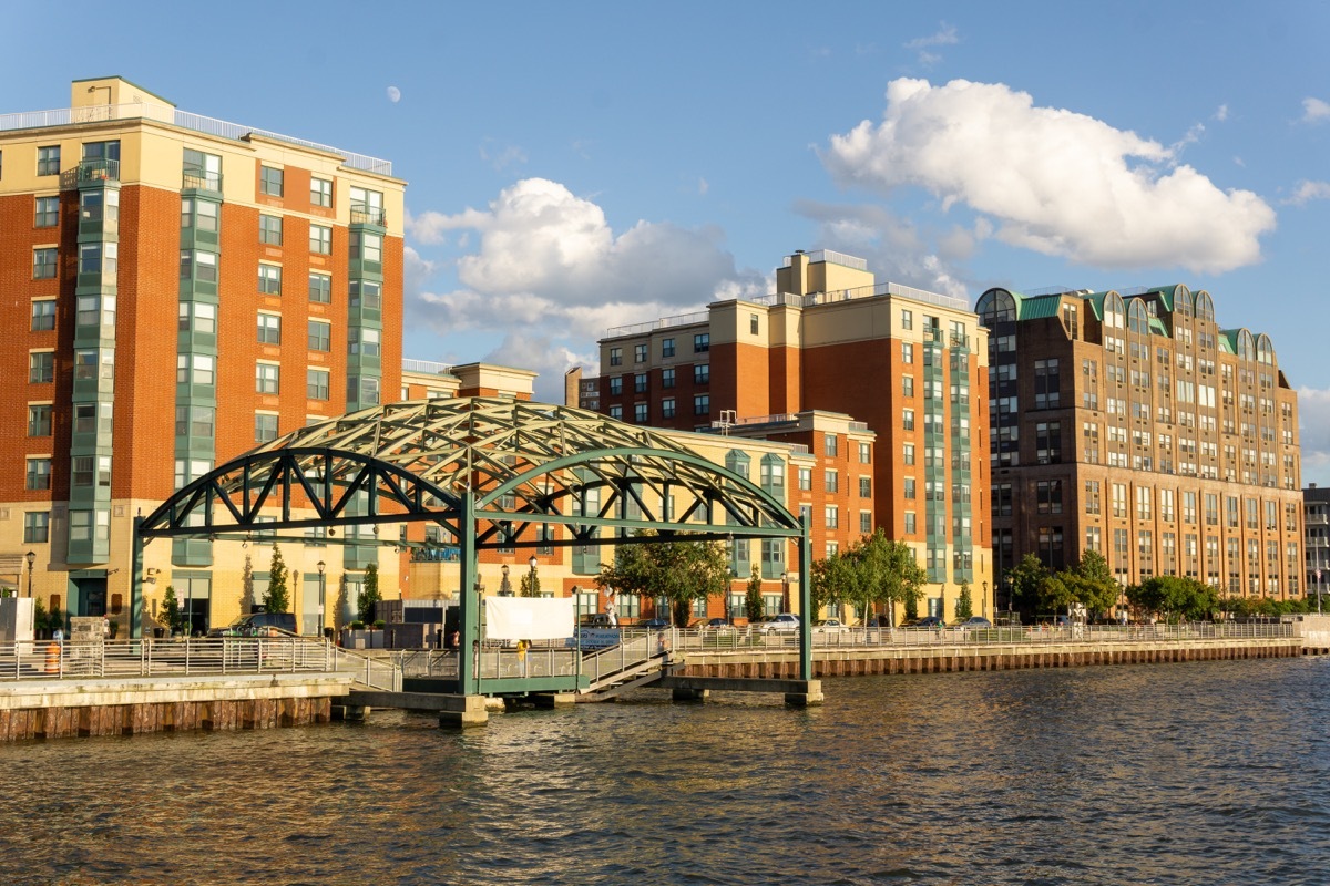
[[[342,675],[0,683],[0,741],[327,723]]]

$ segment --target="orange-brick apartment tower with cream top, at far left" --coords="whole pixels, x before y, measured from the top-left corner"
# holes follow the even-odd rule
[[[0,551],[33,553],[24,592],[128,627],[136,514],[257,442],[396,395],[403,189],[386,161],[118,77],[0,116]],[[269,547],[150,545],[146,590],[156,603],[170,583],[196,628],[215,624],[242,575],[262,595]],[[286,555],[306,584],[335,557]]]

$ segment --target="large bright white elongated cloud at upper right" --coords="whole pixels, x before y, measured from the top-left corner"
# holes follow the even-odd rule
[[[1222,191],[1158,142],[1003,84],[887,86],[880,124],[831,137],[822,162],[842,186],[927,189],[996,222],[1008,244],[1105,268],[1217,274],[1261,258],[1274,211]]]

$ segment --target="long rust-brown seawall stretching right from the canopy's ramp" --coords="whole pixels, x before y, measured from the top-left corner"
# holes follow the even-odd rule
[[[944,646],[814,650],[813,676],[874,676],[1067,668],[1095,664],[1164,664],[1228,659],[1283,659],[1303,654],[1303,640],[1180,640],[1169,643],[1039,643],[1029,646]],[[717,651],[676,654],[673,673],[708,677],[791,679],[795,651]]]

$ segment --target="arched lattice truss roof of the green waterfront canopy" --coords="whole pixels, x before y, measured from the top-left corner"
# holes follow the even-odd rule
[[[656,430],[568,406],[471,397],[392,404],[287,434],[181,489],[140,535],[278,537],[428,521],[460,539],[471,537],[467,491],[476,549],[630,543],[636,529],[802,534],[759,486]],[[371,543],[360,533],[329,541]]]

